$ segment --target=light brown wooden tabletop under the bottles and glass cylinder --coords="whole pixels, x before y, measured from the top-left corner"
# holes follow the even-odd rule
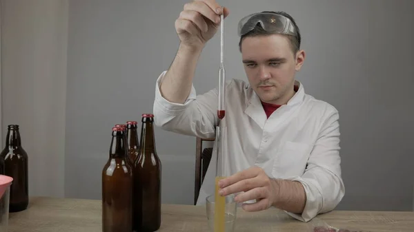
[[[101,232],[101,201],[31,198],[26,211],[9,217],[8,232]],[[414,231],[414,212],[333,211],[304,223],[277,209],[247,213],[239,208],[235,231],[310,232],[315,224],[358,231]],[[206,208],[164,204],[159,231],[208,231]]]

